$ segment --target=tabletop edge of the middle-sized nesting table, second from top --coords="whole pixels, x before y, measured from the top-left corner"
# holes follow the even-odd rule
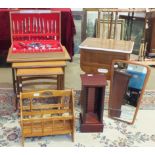
[[[64,67],[64,66],[66,66],[66,61],[22,62],[12,64],[12,68],[41,68],[41,67]]]

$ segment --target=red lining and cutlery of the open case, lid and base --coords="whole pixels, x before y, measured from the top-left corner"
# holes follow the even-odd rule
[[[12,12],[10,18],[13,53],[63,51],[60,43],[61,20],[59,12]],[[31,43],[39,44],[39,46],[30,48]],[[41,48],[40,45],[42,45]]]

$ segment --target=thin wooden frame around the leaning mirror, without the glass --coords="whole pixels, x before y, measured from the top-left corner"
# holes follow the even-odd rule
[[[137,107],[136,107],[136,110],[135,110],[135,113],[134,113],[134,116],[133,116],[133,119],[131,122],[129,121],[125,121],[125,120],[122,120],[122,119],[119,119],[119,118],[114,118],[114,117],[111,117],[110,116],[110,100],[111,100],[111,93],[112,93],[112,83],[113,83],[113,74],[114,74],[114,64],[116,62],[122,62],[122,63],[127,63],[127,64],[133,64],[133,65],[140,65],[140,66],[143,66],[143,67],[146,67],[147,69],[147,74],[146,74],[146,77],[145,77],[145,80],[144,80],[144,85],[143,85],[143,88],[141,90],[141,94],[140,94],[140,97],[138,99],[138,102],[137,102]],[[149,79],[149,76],[150,76],[150,68],[149,66],[147,65],[144,65],[143,63],[141,63],[140,61],[137,62],[137,61],[126,61],[126,60],[113,60],[112,61],[112,66],[111,66],[111,79],[110,79],[110,94],[109,94],[109,102],[108,102],[108,117],[109,118],[112,118],[114,120],[119,120],[119,121],[122,121],[122,122],[125,122],[125,123],[128,123],[128,124],[134,124],[135,120],[136,120],[136,116],[137,116],[137,113],[138,113],[138,110],[139,110],[139,107],[140,107],[140,103],[141,103],[141,100],[142,100],[142,97],[143,97],[143,94],[144,94],[144,91],[145,91],[145,88],[146,88],[146,84],[148,82],[148,79]]]

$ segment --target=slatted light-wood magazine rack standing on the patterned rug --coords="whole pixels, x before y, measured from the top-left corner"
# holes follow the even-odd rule
[[[72,90],[20,93],[22,144],[25,137],[71,134],[74,141]]]

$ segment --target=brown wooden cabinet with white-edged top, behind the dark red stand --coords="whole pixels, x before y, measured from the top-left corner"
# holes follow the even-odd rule
[[[79,46],[80,67],[88,74],[97,74],[98,69],[107,69],[105,75],[110,80],[112,61],[129,60],[133,45],[132,41],[87,38]]]

